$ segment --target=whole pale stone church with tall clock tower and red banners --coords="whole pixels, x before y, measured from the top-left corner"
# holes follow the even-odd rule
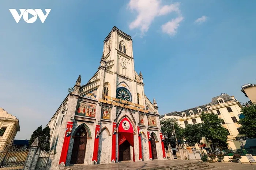
[[[48,125],[52,167],[166,159],[158,106],[144,94],[132,39],[113,27],[98,71],[62,102]]]

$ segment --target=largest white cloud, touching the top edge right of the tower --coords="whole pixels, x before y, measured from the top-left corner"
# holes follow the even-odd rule
[[[138,12],[136,19],[129,24],[130,29],[139,28],[143,33],[148,31],[152,21],[157,16],[163,16],[170,12],[180,15],[180,3],[161,5],[161,0],[130,0],[128,6],[132,11]]]

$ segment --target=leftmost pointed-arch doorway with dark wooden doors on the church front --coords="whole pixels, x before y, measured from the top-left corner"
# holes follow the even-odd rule
[[[86,143],[87,143],[87,133],[84,127],[81,127],[75,133],[75,139],[74,139],[74,145],[72,149],[70,164],[84,163]]]

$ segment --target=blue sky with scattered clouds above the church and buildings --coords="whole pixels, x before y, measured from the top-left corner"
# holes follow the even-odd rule
[[[0,107],[20,122],[16,139],[45,126],[73,87],[94,75],[113,26],[132,36],[135,69],[160,114],[211,102],[225,92],[247,102],[255,80],[256,1],[2,0]],[[52,9],[44,24],[9,9]]]

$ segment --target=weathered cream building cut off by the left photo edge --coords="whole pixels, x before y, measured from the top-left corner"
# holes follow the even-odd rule
[[[0,150],[7,149],[20,131],[19,119],[0,107]]]

